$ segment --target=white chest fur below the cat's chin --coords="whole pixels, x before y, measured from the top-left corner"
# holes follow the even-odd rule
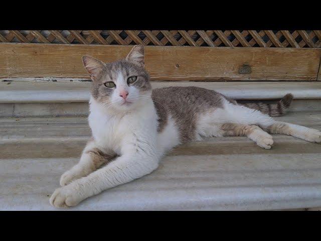
[[[153,103],[145,103],[127,113],[106,111],[94,99],[90,100],[89,126],[95,143],[102,149],[121,154],[139,140],[155,146],[157,135],[156,112]]]

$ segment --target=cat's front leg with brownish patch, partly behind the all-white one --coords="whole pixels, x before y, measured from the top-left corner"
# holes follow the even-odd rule
[[[81,154],[79,163],[60,177],[60,186],[65,186],[76,179],[87,176],[102,164],[111,161],[115,156],[114,152],[102,151],[94,140],[90,140]]]

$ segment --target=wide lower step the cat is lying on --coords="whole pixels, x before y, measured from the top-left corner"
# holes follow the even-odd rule
[[[321,130],[321,111],[278,119]],[[90,137],[85,117],[0,118],[0,210],[54,210],[49,196]],[[275,210],[321,206],[321,146],[274,136],[271,150],[243,137],[175,148],[148,176],[71,210]]]

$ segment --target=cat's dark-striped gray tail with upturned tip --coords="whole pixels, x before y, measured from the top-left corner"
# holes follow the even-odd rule
[[[260,110],[262,113],[268,114],[270,116],[280,116],[285,113],[285,110],[290,106],[293,100],[292,94],[284,95],[281,100],[276,103],[266,104],[262,102],[258,103],[240,103],[251,109]]]

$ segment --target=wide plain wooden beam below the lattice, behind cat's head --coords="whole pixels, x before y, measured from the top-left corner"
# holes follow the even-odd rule
[[[0,43],[0,77],[88,78],[81,56],[105,62],[132,46]],[[321,49],[146,46],[152,80],[316,80]],[[248,64],[251,73],[239,73]]]

